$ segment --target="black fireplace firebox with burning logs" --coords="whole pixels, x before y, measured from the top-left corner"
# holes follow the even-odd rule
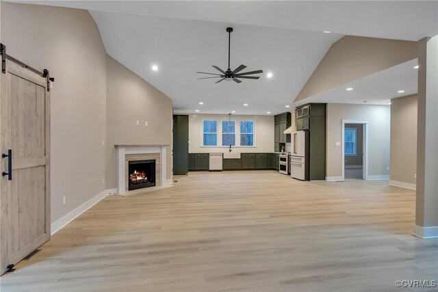
[[[155,186],[155,159],[128,161],[128,190]]]

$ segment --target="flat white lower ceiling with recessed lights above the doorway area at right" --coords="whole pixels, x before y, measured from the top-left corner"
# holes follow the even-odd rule
[[[417,66],[418,60],[388,68],[373,75],[357,79],[338,88],[327,90],[306,98],[304,101],[294,103],[294,107],[305,103],[356,103],[367,105],[387,105],[392,98],[407,96],[417,93]],[[353,90],[346,90],[353,88]],[[399,90],[404,90],[398,93]]]

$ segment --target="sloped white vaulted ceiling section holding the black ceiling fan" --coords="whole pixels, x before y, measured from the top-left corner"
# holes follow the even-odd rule
[[[227,69],[225,23],[91,12],[107,53],[172,98],[177,113],[272,114],[285,111],[313,70],[341,36],[322,32],[233,25],[231,68],[272,71],[274,77],[229,81],[196,71]],[[129,33],[127,33],[129,31]],[[159,66],[151,70],[152,64]],[[203,101],[201,107],[198,102]],[[248,107],[243,104],[248,103]]]

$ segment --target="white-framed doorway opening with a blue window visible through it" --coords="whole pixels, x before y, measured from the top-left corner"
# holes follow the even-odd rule
[[[342,120],[342,179],[368,179],[368,121]]]

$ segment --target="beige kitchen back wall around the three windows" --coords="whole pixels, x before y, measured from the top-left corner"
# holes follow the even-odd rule
[[[218,131],[222,120],[229,120],[228,115],[190,115],[189,116],[189,152],[209,153],[228,152],[227,146],[203,147],[203,120],[217,120]],[[274,152],[274,117],[273,116],[238,116],[232,115],[231,120],[236,121],[236,128],[241,120],[253,120],[255,123],[255,147],[234,147],[233,152]],[[236,129],[237,131],[237,129]],[[220,132],[219,132],[220,133]],[[218,133],[218,144],[220,145],[220,134]],[[236,142],[240,139],[236,134]]]

